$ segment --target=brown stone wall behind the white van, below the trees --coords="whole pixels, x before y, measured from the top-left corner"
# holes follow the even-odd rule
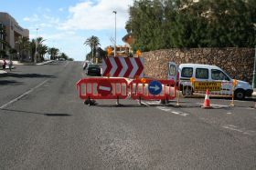
[[[145,52],[144,75],[166,78],[167,63],[217,65],[232,78],[252,82],[254,48],[173,48]]]

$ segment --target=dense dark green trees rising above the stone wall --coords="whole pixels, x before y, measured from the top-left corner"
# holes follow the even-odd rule
[[[145,51],[173,47],[253,47],[255,2],[135,0],[129,8],[125,28],[133,34],[133,49],[144,46]]]

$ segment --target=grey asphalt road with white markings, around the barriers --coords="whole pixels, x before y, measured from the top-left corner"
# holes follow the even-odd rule
[[[256,169],[254,101],[83,105],[79,62],[0,75],[0,169]]]

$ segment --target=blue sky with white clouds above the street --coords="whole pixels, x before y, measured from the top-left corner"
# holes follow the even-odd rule
[[[116,45],[124,45],[133,0],[0,0],[0,12],[12,15],[29,30],[29,38],[42,36],[48,47],[57,47],[76,61],[90,53],[83,45],[91,35],[98,36],[101,48],[114,44],[116,11]]]

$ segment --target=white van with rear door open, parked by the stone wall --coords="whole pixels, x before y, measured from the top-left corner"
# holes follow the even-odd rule
[[[180,81],[180,89],[183,90],[183,94],[193,95],[194,89],[189,83],[191,77],[194,77],[195,81],[221,82],[220,94],[232,95],[233,79],[218,66],[181,64],[177,67],[173,62],[168,63],[168,79]],[[251,96],[252,93],[253,89],[249,83],[238,80],[235,87],[235,98],[244,99],[245,96]]]

